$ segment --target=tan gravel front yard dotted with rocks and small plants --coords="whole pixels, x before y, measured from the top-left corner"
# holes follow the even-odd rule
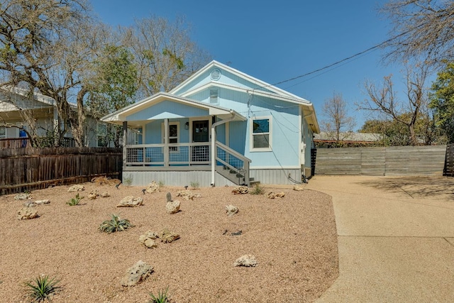
[[[232,194],[233,187],[192,189],[202,197],[176,197],[183,188],[83,184],[81,205],[70,186],[33,191],[33,199],[50,199],[35,206],[37,219],[18,220],[25,201],[14,194],[0,196],[0,301],[28,302],[23,282],[38,275],[57,277],[62,290],[52,302],[149,302],[149,293],[168,287],[171,302],[313,302],[338,277],[336,223],[331,197],[290,188],[282,199]],[[111,197],[88,199],[97,189]],[[190,188],[189,188],[190,189]],[[165,212],[167,192],[181,202],[177,214]],[[144,205],[117,208],[126,196],[143,197]],[[227,216],[225,206],[239,212]],[[98,226],[119,214],[133,228],[102,233]],[[149,249],[138,242],[146,231],[169,228],[179,233],[173,243]],[[232,234],[238,233],[238,236]],[[234,267],[251,254],[258,265]],[[121,277],[138,260],[154,268],[147,280],[123,287]]]

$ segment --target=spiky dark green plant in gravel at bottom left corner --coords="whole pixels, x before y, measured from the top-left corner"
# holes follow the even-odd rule
[[[62,287],[57,286],[60,280],[52,279],[48,276],[38,276],[31,282],[26,282],[26,297],[31,299],[31,302],[41,302],[52,299],[52,295],[57,293]]]

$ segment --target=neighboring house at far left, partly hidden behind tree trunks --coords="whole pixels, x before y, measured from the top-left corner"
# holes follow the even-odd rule
[[[77,109],[75,104],[70,104],[70,106],[73,110]],[[27,121],[24,111],[27,111],[33,119],[33,126],[30,121]],[[59,126],[59,123],[60,119],[54,99],[38,93],[34,93],[31,97],[26,89],[18,87],[0,88],[0,148],[25,147],[23,145],[26,141],[2,140],[26,138],[26,133],[20,128],[26,129],[37,137],[46,137]],[[103,140],[102,133],[105,123],[100,123],[90,117],[87,117],[86,123],[85,145],[96,147]],[[17,127],[6,127],[2,124],[13,124]],[[65,133],[65,138],[69,145],[74,144],[70,130]]]

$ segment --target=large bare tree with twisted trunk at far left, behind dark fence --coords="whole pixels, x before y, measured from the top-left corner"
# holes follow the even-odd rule
[[[55,99],[59,126],[70,126],[78,146],[84,145],[83,100],[91,85],[91,65],[106,33],[89,13],[85,0],[0,0],[4,84]]]

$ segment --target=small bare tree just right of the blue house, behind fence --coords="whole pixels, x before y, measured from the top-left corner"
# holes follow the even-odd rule
[[[333,94],[333,97],[323,103],[322,128],[331,139],[341,141],[344,139],[343,133],[353,131],[355,119],[348,115],[347,103],[342,94]]]

